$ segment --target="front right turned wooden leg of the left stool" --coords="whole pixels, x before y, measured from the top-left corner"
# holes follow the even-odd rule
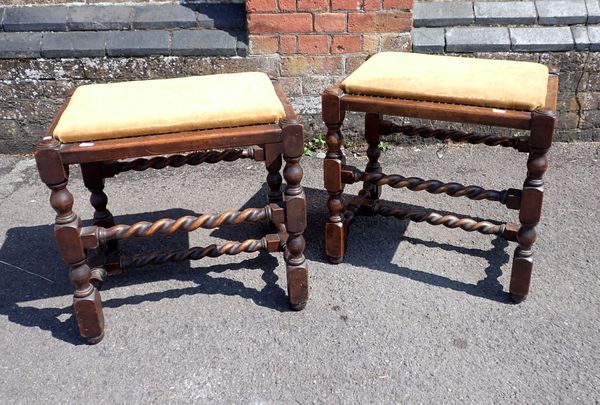
[[[303,309],[308,301],[308,267],[304,258],[304,230],[306,229],[306,196],[300,185],[303,172],[300,157],[304,150],[302,125],[295,121],[284,121],[283,154],[285,168],[285,225],[288,239],[285,248],[288,298],[290,307]]]

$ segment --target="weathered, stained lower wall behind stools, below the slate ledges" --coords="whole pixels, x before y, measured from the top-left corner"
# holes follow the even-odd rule
[[[473,56],[526,60],[560,69],[558,141],[600,140],[600,53],[485,52]],[[307,137],[325,132],[320,94],[364,61],[364,55],[249,57],[152,56],[144,58],[8,59],[0,60],[0,152],[30,153],[64,92],[71,87],[122,80],[182,77],[238,71],[263,71],[279,77],[295,108],[302,114]],[[330,61],[327,61],[330,59]],[[314,68],[313,66],[318,68]],[[283,77],[281,75],[284,74]],[[406,120],[421,123],[418,120]],[[466,129],[485,128],[446,124]],[[362,142],[359,114],[349,114],[343,128],[349,139]],[[509,131],[500,130],[502,133]],[[498,130],[494,130],[498,133]],[[417,142],[404,137],[393,140]],[[420,142],[420,140],[418,141]]]

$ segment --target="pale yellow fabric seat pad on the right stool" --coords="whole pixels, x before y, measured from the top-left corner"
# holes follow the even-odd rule
[[[382,52],[342,85],[346,93],[531,111],[546,100],[539,63]]]

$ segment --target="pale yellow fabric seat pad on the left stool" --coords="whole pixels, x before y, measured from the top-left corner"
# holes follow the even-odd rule
[[[283,105],[264,73],[232,73],[78,87],[54,129],[94,141],[278,122]]]

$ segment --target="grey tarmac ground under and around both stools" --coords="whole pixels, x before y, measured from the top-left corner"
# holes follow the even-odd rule
[[[501,190],[522,184],[525,160],[512,149],[437,144],[391,147],[381,163],[385,173]],[[72,287],[52,239],[49,190],[30,156],[0,156],[0,402],[598,401],[600,144],[552,147],[531,294],[520,305],[506,294],[515,244],[492,236],[361,217],[345,263],[329,264],[322,163],[302,160],[311,293],[304,311],[287,309],[277,254],[154,266],[105,283],[106,336],[86,346],[76,337]],[[107,179],[105,191],[117,219],[133,223],[262,206],[265,177],[263,164],[243,160],[123,173]],[[89,219],[76,168],[69,188],[74,209]],[[517,220],[488,201],[390,188],[382,198]],[[132,239],[123,249],[222,243],[267,229]]]

